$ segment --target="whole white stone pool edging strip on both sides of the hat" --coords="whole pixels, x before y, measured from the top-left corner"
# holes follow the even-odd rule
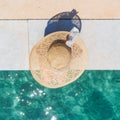
[[[0,70],[29,70],[32,47],[44,37],[47,20],[0,20]],[[120,69],[120,20],[82,20],[88,70]]]

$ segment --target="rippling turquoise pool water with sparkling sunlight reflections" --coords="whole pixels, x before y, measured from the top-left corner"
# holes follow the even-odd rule
[[[0,120],[120,120],[120,71],[87,70],[58,89],[30,71],[0,71]]]

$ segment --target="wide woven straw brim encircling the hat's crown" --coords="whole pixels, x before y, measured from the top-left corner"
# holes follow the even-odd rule
[[[62,69],[53,68],[48,59],[48,50],[56,40],[66,41],[69,32],[54,32],[40,40],[30,54],[30,71],[35,80],[48,88],[58,88],[75,81],[84,72],[88,54],[87,48],[81,39],[78,39],[71,48],[69,64]]]

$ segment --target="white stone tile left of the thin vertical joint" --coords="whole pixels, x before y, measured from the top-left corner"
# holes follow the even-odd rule
[[[0,70],[28,69],[27,21],[0,21]]]

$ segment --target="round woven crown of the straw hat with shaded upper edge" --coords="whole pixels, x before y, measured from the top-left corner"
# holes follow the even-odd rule
[[[63,40],[57,40],[50,46],[47,59],[52,68],[58,70],[66,68],[71,60],[71,49]]]

